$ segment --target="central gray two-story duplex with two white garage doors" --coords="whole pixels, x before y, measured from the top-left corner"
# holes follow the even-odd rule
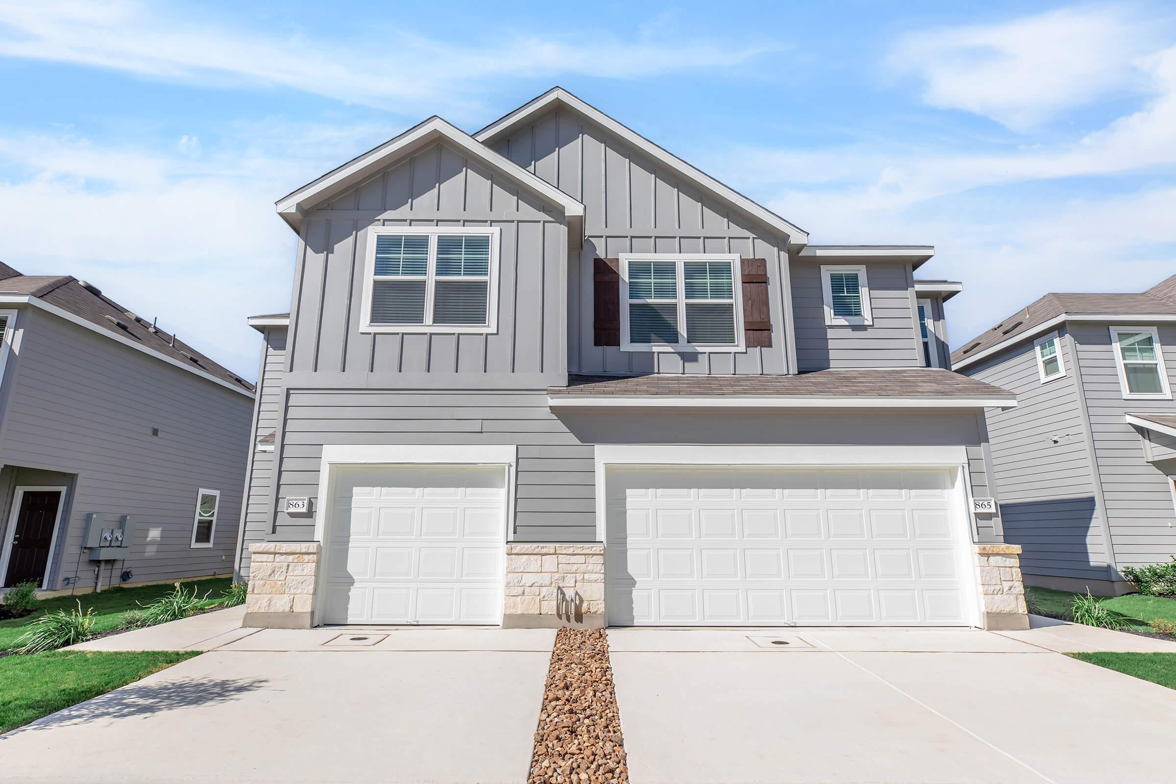
[[[931,248],[810,246],[559,88],[278,212],[247,624],[1025,625]]]

